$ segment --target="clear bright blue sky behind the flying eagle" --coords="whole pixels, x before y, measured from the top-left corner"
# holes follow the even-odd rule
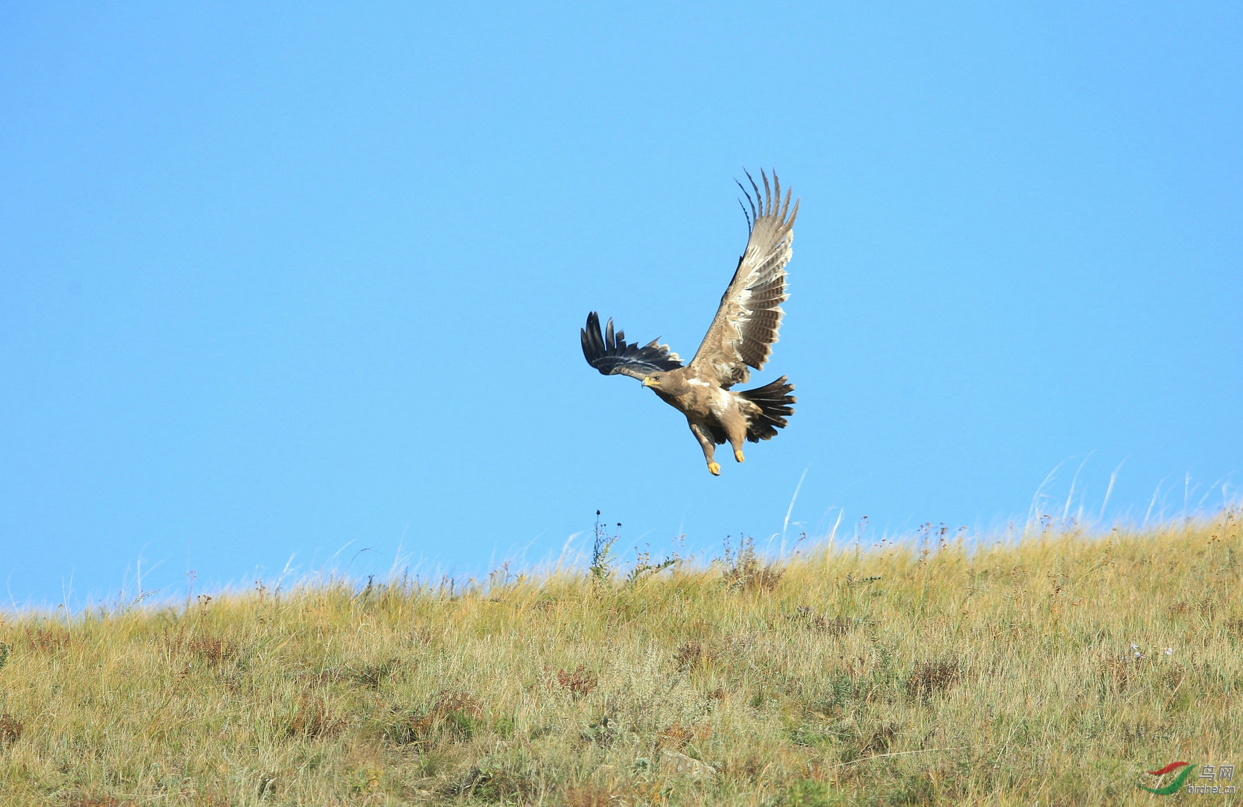
[[[0,7],[6,603],[1243,484],[1238,4],[533,5]],[[713,479],[578,328],[694,353],[743,167],[799,403]]]

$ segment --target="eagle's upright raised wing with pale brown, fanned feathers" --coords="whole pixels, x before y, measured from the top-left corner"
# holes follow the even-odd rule
[[[756,189],[755,199],[746,188],[738,185],[751,203],[752,215],[747,216],[751,239],[747,241],[747,250],[738,259],[738,269],[733,272],[730,287],[721,296],[721,307],[716,310],[712,326],[690,363],[696,374],[716,378],[726,389],[747,380],[751,376],[748,364],[763,369],[772,353],[772,344],[777,341],[781,318],[786,313],[781,310],[781,303],[787,296],[786,264],[793,255],[791,244],[794,240],[798,200],[794,200],[794,209],[791,210],[787,189],[784,204],[782,203],[777,172],[773,172],[773,189],[768,188],[768,177],[763,172],[759,175],[764,180],[763,198],[751,174],[747,174],[747,179],[751,179],[751,187]],[[742,211],[746,213],[746,208]]]

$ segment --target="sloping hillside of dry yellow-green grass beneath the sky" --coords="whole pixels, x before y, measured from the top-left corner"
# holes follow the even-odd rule
[[[1147,805],[1243,762],[1237,510],[948,537],[9,613],[0,801]]]

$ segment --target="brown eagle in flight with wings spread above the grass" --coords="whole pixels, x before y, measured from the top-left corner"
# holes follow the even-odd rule
[[[602,333],[600,317],[594,311],[587,315],[587,327],[580,330],[588,364],[604,376],[640,379],[661,400],[686,415],[713,476],[721,475],[721,465],[712,459],[717,445],[728,441],[733,446],[733,459],[741,463],[743,439],[758,443],[776,436],[777,429],[786,425],[786,418],[794,414],[791,404],[797,400],[789,394],[794,385],[787,383],[784,376],[756,389],[730,389],[747,382],[750,367],[763,369],[772,354],[784,316],[781,303],[787,298],[786,264],[793,255],[791,244],[798,199],[792,210],[787,188],[782,201],[776,170],[771,188],[768,175],[759,172],[759,177],[764,184],[762,194],[747,174],[755,196],[738,183],[751,206],[748,214],[747,205],[742,205],[747,218],[747,249],[689,364],[684,366],[677,353],[660,344],[659,338],[641,347],[638,342],[628,344],[624,331],[614,332],[612,318]]]

